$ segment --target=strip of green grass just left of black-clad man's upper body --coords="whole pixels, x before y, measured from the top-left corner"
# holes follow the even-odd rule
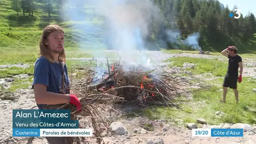
[[[187,68],[187,70],[195,74],[212,73],[214,76],[223,76],[227,71],[228,65],[218,59],[199,59],[191,57],[175,57],[165,61],[174,61],[172,65],[176,67],[183,67],[184,63],[196,64],[194,68]]]

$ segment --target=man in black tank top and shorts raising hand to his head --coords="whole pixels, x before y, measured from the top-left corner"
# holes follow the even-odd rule
[[[221,51],[221,54],[227,56],[229,59],[229,65],[227,74],[223,82],[223,99],[222,102],[226,102],[227,88],[232,88],[235,92],[235,98],[238,102],[237,80],[238,83],[242,82],[243,64],[242,58],[237,55],[237,48],[235,46],[229,46]],[[238,67],[240,67],[240,75],[238,77]]]

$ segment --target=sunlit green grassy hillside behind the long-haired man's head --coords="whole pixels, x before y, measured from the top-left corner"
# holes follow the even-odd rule
[[[101,24],[101,19],[58,22],[58,16],[51,14],[51,22],[48,22],[48,13],[40,10],[40,3],[34,5],[37,9],[33,16],[27,13],[23,16],[22,11],[17,15],[11,8],[11,0],[0,1],[0,64],[34,62],[39,52],[40,35],[48,24],[59,24],[64,28],[68,57],[92,56],[90,51],[85,52],[87,48],[104,48],[97,38],[99,33],[86,33],[89,28],[86,26]]]

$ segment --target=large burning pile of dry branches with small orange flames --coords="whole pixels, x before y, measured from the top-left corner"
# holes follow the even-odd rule
[[[127,102],[140,107],[160,104],[181,109],[170,100],[181,85],[188,84],[184,81],[179,83],[179,76],[154,73],[154,70],[140,64],[130,65],[129,69],[124,70],[120,60],[114,64],[107,63],[107,66],[108,69],[96,67],[87,77],[89,84],[77,83],[72,86],[75,88],[73,91],[87,99],[93,96],[95,101],[112,99],[113,103]]]

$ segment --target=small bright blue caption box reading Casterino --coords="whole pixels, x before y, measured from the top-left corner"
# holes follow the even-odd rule
[[[40,136],[37,128],[13,128],[13,136]]]

